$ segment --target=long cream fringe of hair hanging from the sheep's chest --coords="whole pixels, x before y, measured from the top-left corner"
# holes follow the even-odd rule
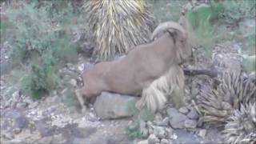
[[[142,98],[136,106],[138,109],[147,106],[152,111],[161,110],[170,98],[176,106],[181,106],[183,104],[184,80],[182,68],[178,65],[171,66],[166,74],[154,80],[142,91]]]

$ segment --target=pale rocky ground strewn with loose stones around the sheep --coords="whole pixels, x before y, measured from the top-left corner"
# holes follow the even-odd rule
[[[223,49],[223,47],[226,49]],[[222,69],[241,70],[241,58],[238,57],[238,50],[235,50],[234,47],[236,47],[234,43],[224,43],[216,46],[213,61],[205,58],[203,51],[196,51],[198,61],[194,65],[190,65],[190,68],[218,66]],[[68,77],[72,74],[81,73],[84,66],[89,68],[91,65],[90,59],[81,58],[77,66],[67,64],[61,71]],[[100,98],[103,98],[102,101],[106,101],[105,105],[95,104],[90,106],[86,112],[81,112],[76,98],[72,95],[72,90],[69,89],[53,91],[49,96],[38,101],[33,101],[22,95],[19,90],[14,91],[11,97],[6,98],[5,94],[11,87],[7,78],[8,74],[1,77],[2,143],[112,144],[138,142],[140,144],[164,144],[222,142],[220,130],[202,126],[202,122],[198,121],[200,114],[194,105],[194,99],[198,96],[200,86],[210,81],[210,78],[205,75],[186,78],[187,106],[180,109],[171,105],[166,106],[161,114],[156,114],[153,122],[142,122],[142,131],[146,134],[145,140],[143,138],[134,140],[128,138],[126,127],[134,122],[134,118],[118,118],[126,117],[129,113],[123,112],[122,107],[113,107],[113,103],[122,106],[122,102],[126,100],[119,101],[121,104],[107,102],[107,99],[104,100],[107,97],[113,99],[113,97],[124,98],[123,96],[103,93],[103,97],[98,97],[98,102],[101,101]],[[74,87],[81,85],[80,83],[81,78],[70,80],[70,84]],[[130,97],[127,96],[127,98]],[[95,113],[95,109],[98,110],[98,114],[105,114],[106,118],[118,119],[102,120]],[[104,111],[108,109],[110,112]],[[101,110],[103,113],[101,113]]]

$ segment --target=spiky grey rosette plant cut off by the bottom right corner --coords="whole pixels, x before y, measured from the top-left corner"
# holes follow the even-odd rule
[[[223,137],[225,143],[256,143],[256,103],[241,106],[226,121]]]

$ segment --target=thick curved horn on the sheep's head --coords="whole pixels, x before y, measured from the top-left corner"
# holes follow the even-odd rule
[[[163,22],[158,25],[151,35],[151,40],[159,37],[159,34],[167,32],[167,30],[178,30],[182,34],[182,38],[186,38],[186,30],[178,24],[178,22]]]

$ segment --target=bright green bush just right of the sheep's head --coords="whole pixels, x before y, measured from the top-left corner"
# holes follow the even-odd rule
[[[186,14],[191,25],[191,35],[193,35],[191,36],[192,45],[204,48],[206,54],[211,54],[219,38],[214,22],[218,20],[223,10],[221,2],[210,2],[210,5],[194,6]]]

